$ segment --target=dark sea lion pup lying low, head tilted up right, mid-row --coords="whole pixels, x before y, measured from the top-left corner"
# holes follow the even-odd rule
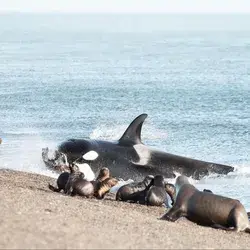
[[[141,182],[133,182],[121,186],[116,193],[117,201],[140,201],[144,199],[145,202],[145,189],[154,179],[153,175],[147,175]]]

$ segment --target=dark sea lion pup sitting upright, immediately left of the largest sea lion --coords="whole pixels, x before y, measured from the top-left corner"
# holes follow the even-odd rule
[[[170,185],[167,186],[167,190],[173,192]],[[172,197],[173,194],[171,193]],[[172,199],[172,198],[171,198]],[[167,203],[166,183],[163,175],[156,175],[152,181],[149,190],[146,193],[145,203],[148,206],[162,206]]]

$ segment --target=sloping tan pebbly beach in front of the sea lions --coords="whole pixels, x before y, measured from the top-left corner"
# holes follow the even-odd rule
[[[47,176],[0,170],[0,248],[249,249],[250,234],[159,220],[147,207],[53,193]]]

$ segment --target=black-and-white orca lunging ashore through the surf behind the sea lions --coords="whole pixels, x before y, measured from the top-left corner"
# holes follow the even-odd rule
[[[146,146],[141,141],[141,129],[147,116],[141,114],[136,117],[118,141],[69,139],[58,146],[57,155],[66,155],[69,163],[88,164],[94,173],[108,167],[112,176],[124,180],[141,180],[146,175],[158,174],[175,178],[176,173],[199,180],[210,173],[228,174],[234,171],[232,166],[174,155]],[[83,157],[90,151],[96,153],[93,158]]]

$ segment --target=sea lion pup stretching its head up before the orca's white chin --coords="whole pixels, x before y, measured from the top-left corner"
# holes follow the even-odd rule
[[[70,175],[65,187],[67,195],[80,195],[84,197],[92,197],[94,194],[94,186],[90,181],[84,179],[84,174],[79,171],[75,164],[70,164]]]

